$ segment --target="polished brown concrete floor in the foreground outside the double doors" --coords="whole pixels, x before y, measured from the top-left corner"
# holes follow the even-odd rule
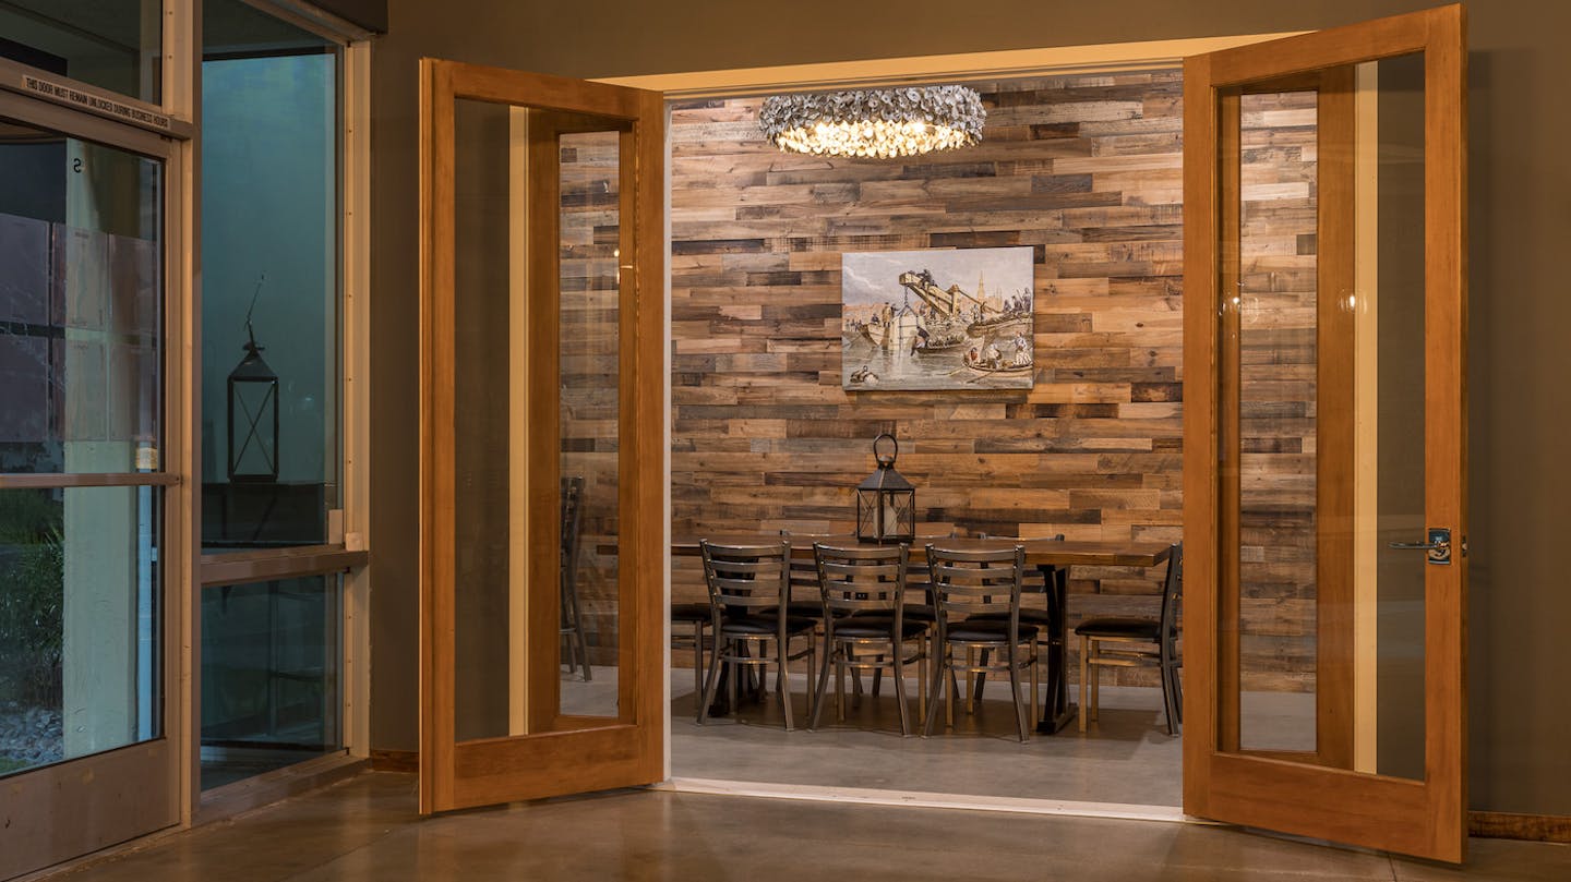
[[[71,882],[709,879],[1565,882],[1571,846],[1474,840],[1450,868],[1230,827],[613,791],[421,821],[369,772],[63,871]]]

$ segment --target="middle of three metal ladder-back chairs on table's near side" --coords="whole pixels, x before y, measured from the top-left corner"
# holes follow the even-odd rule
[[[823,716],[831,667],[839,720],[845,720],[845,672],[888,669],[894,678],[895,702],[900,705],[900,734],[911,734],[905,665],[917,665],[917,714],[922,714],[927,711],[927,676],[922,664],[927,659],[930,626],[903,615],[910,548],[814,543],[812,554],[823,593],[825,650],[807,728],[817,728]],[[916,650],[906,654],[906,645],[913,640],[917,643]]]

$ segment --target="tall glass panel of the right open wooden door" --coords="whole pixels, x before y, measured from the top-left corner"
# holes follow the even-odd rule
[[[1240,97],[1238,745],[1422,778],[1423,56]]]

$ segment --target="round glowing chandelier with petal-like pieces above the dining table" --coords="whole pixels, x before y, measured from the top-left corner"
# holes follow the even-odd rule
[[[771,96],[759,129],[787,152],[908,157],[982,141],[982,96],[966,86],[910,86]]]

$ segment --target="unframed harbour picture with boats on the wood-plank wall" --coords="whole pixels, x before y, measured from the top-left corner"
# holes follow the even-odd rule
[[[840,256],[840,386],[1029,389],[1032,250]]]

